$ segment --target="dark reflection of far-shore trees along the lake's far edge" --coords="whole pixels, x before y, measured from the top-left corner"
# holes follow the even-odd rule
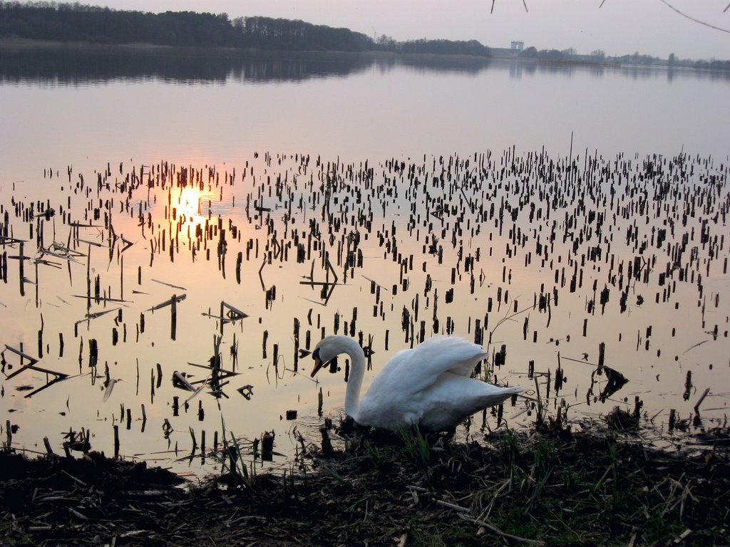
[[[666,74],[651,67],[619,67],[572,63],[537,63],[480,58],[469,55],[394,55],[390,53],[307,53],[205,50],[202,48],[49,45],[0,47],[0,82],[59,82],[80,84],[113,79],[161,79],[177,82],[277,82],[346,77],[369,69],[398,68],[418,72],[477,74],[485,69],[510,74],[535,72],[572,76],[606,71],[625,77]],[[670,71],[670,79],[697,77],[730,79],[730,73]]]

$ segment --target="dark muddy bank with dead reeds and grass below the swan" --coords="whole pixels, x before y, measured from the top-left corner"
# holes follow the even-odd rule
[[[727,429],[691,451],[639,436],[492,433],[350,438],[294,473],[183,484],[98,454],[0,452],[4,546],[727,545]],[[228,466],[224,466],[227,470]]]

